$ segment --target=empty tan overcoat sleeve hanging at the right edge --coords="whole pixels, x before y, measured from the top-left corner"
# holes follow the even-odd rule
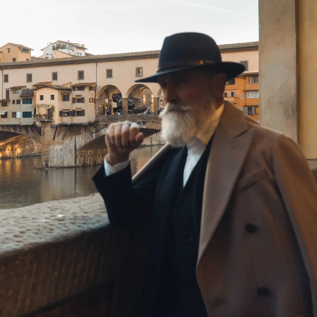
[[[273,169],[310,279],[317,317],[317,183],[301,148],[283,134],[275,143]]]

